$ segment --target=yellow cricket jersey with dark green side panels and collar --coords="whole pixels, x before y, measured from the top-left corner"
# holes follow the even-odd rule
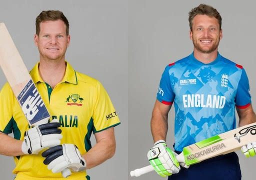
[[[85,74],[74,71],[66,62],[65,75],[53,89],[45,83],[38,72],[37,63],[30,75],[51,115],[58,118],[63,138],[61,143],[73,143],[81,154],[90,148],[91,133],[119,124],[119,118],[102,84]],[[0,91],[0,131],[13,132],[15,139],[24,139],[28,122],[8,83]],[[72,172],[67,178],[52,173],[43,164],[41,153],[15,156],[17,180],[36,179],[89,179],[86,172]]]

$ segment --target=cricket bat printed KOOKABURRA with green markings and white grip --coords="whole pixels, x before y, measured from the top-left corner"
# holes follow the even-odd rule
[[[179,162],[192,165],[205,159],[233,152],[242,145],[256,141],[256,122],[214,135],[183,148],[176,156]],[[130,171],[130,176],[140,176],[154,170],[151,165]]]

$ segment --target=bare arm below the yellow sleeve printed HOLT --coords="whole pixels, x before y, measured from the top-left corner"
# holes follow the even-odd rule
[[[115,152],[114,128],[110,127],[95,134],[96,144],[82,157],[86,161],[86,169],[101,164],[111,158]]]

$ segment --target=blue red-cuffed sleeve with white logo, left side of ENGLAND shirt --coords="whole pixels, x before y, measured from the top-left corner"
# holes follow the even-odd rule
[[[171,76],[169,75],[169,69],[170,67],[167,65],[162,73],[160,85],[156,95],[157,100],[167,105],[172,104],[175,97],[175,94],[171,88]]]

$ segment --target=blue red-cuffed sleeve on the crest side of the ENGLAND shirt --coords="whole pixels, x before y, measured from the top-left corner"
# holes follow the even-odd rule
[[[245,108],[251,103],[249,93],[249,81],[245,70],[242,68],[241,78],[238,82],[237,92],[235,96],[235,105],[238,108]]]

